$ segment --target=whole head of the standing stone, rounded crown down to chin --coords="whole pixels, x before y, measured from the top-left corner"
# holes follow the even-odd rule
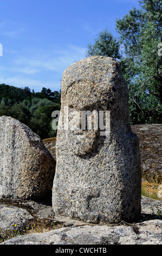
[[[68,123],[72,121],[73,129],[67,129],[66,136],[76,155],[93,153],[99,144],[101,147],[102,137],[107,136],[102,131],[118,129],[118,120],[124,126],[129,123],[127,101],[124,77],[112,58],[92,57],[68,67],[62,77],[61,111],[68,108],[66,117]],[[87,119],[89,122],[92,119],[92,129],[88,124],[83,124],[82,129],[83,112],[90,112]]]

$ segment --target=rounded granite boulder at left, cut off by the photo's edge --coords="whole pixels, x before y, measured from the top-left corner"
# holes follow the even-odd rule
[[[0,117],[0,197],[39,199],[51,192],[55,160],[39,136],[11,117]]]

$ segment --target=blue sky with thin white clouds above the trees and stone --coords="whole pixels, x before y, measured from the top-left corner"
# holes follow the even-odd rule
[[[138,0],[0,0],[0,84],[61,89],[63,71]]]

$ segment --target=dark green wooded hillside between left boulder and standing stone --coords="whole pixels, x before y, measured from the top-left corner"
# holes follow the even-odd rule
[[[42,88],[35,93],[28,87],[17,88],[0,84],[0,116],[7,115],[26,124],[42,139],[55,137],[51,128],[51,114],[60,110],[61,93]]]

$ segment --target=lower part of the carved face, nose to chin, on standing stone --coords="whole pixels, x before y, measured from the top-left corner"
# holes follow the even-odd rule
[[[89,106],[89,109],[92,107]],[[95,109],[77,111],[66,106],[61,118],[68,144],[77,156],[96,153],[99,144],[103,142],[103,136],[105,137],[109,132],[109,111]]]

